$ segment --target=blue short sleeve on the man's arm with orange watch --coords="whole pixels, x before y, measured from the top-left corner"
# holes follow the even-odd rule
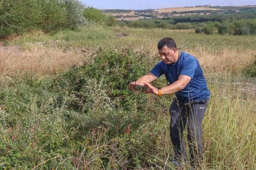
[[[186,75],[193,78],[197,67],[197,61],[189,59],[186,62],[184,62],[183,66],[181,67],[180,75]]]

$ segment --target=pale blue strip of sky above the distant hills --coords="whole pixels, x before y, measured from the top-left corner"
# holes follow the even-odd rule
[[[196,5],[239,6],[256,5],[256,0],[80,0],[87,6],[98,9],[160,9]]]

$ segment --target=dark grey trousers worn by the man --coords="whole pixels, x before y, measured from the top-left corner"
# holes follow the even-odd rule
[[[201,161],[202,153],[202,128],[201,123],[204,117],[209,99],[203,99],[194,103],[183,103],[176,98],[172,102],[169,112],[171,114],[170,121],[170,137],[174,149],[174,159],[187,160],[185,156],[185,144],[183,140],[183,131],[187,125],[188,130],[188,159],[191,164]]]

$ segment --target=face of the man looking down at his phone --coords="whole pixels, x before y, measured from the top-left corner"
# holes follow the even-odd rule
[[[177,49],[170,49],[167,46],[163,46],[162,49],[158,49],[158,53],[160,54],[162,61],[166,64],[175,63],[177,60],[177,56],[175,55],[177,52]]]

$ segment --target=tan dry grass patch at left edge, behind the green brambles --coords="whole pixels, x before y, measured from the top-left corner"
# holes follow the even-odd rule
[[[64,52],[58,48],[46,48],[32,45],[30,49],[22,50],[18,46],[0,48],[0,74],[51,75],[56,71],[82,64],[84,55],[76,51]]]

